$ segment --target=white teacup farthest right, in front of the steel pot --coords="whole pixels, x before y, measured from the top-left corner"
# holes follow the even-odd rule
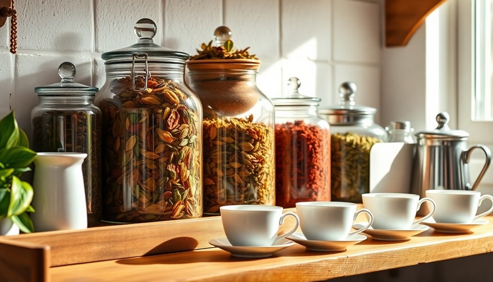
[[[475,219],[493,212],[490,210],[476,215],[481,203],[488,199],[493,202],[491,195],[481,196],[479,191],[470,190],[426,190],[426,197],[436,203],[433,219],[441,223],[471,223]]]

